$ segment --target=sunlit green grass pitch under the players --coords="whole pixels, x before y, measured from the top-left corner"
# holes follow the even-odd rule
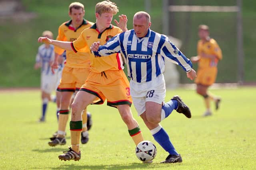
[[[60,161],[58,155],[70,145],[50,147],[49,137],[57,130],[55,104],[48,105],[45,123],[40,117],[40,91],[0,91],[0,169],[1,170],[238,170],[256,169],[256,88],[211,90],[222,96],[220,110],[211,117],[201,117],[203,99],[194,90],[168,90],[166,101],[178,94],[190,106],[192,119],[173,111],[161,125],[170,135],[181,164],[159,164],[168,155],[154,141],[142,119],[145,140],[157,147],[152,164],[142,164],[135,155],[135,145],[118,111],[106,104],[89,106],[93,126],[90,140],[81,145],[80,161]],[[212,104],[213,107],[213,104]],[[69,129],[69,125],[67,126]]]

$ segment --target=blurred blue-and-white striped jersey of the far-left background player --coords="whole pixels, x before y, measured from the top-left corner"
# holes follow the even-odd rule
[[[38,53],[36,55],[36,63],[41,63],[41,74],[50,75],[51,62],[54,60],[54,45],[50,45],[46,48],[45,44],[40,45],[38,48]]]

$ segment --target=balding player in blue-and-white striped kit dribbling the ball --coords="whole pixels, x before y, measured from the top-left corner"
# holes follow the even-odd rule
[[[98,57],[112,53],[121,53],[124,56],[128,76],[131,78],[130,93],[134,107],[154,139],[169,153],[166,160],[161,163],[182,162],[180,154],[159,123],[168,117],[173,109],[188,118],[191,117],[191,113],[179,96],[174,96],[169,102],[164,103],[165,59],[179,64],[191,80],[196,77],[196,72],[192,69],[190,60],[169,41],[168,37],[150,30],[150,25],[150,15],[146,12],[137,12],[133,18],[134,29],[116,35],[103,46],[95,42],[91,50]]]

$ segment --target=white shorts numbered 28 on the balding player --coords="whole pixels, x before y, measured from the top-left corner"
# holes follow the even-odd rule
[[[150,82],[134,82],[130,80],[132,103],[140,116],[146,111],[146,102],[162,104],[166,95],[164,75],[160,74]]]

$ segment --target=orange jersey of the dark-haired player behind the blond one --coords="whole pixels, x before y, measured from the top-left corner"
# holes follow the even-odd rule
[[[92,22],[84,20],[83,23],[77,28],[74,29],[71,25],[71,21],[64,22],[60,25],[58,30],[58,36],[56,40],[59,41],[70,41],[73,42],[76,40],[82,31],[90,26]],[[64,49],[59,47],[54,48],[55,53],[61,55],[64,52]],[[74,51],[66,51],[66,64],[65,66],[72,68],[89,68],[90,67],[90,57],[88,53],[74,53]]]

